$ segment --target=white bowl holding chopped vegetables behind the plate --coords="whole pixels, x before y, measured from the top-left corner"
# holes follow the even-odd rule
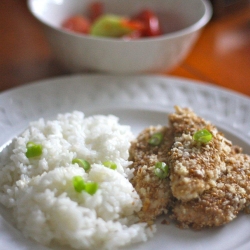
[[[105,12],[132,16],[144,8],[160,18],[164,35],[124,41],[68,32],[62,22],[84,14],[93,0],[28,0],[31,13],[44,25],[59,61],[72,72],[149,73],[167,71],[190,52],[212,15],[206,0],[100,0]]]

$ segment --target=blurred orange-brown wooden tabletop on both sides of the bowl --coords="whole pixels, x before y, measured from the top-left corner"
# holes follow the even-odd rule
[[[250,96],[250,1],[211,0],[213,18],[191,53],[163,75],[209,82]],[[0,91],[70,74],[56,59],[26,0],[0,1]]]

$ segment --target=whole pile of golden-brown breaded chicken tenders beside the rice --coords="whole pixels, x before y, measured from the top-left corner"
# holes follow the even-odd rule
[[[226,224],[249,209],[250,156],[190,109],[176,107],[169,123],[169,127],[146,128],[130,148],[132,184],[143,204],[140,219],[151,224],[171,209],[171,218],[182,227],[201,229]],[[212,134],[211,141],[193,139],[201,129]],[[149,145],[156,132],[164,134],[162,143]],[[170,167],[165,179],[155,175],[158,161]]]

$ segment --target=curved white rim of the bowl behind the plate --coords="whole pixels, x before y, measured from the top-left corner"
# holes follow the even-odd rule
[[[166,40],[166,39],[173,39],[181,36],[185,36],[191,33],[194,33],[198,30],[201,30],[212,18],[213,15],[213,8],[212,4],[208,0],[200,0],[200,2],[204,5],[205,12],[202,15],[202,17],[193,23],[192,25],[177,30],[173,32],[169,32],[160,36],[155,36],[155,37],[143,37],[139,39],[120,39],[120,38],[112,38],[112,37],[97,37],[97,36],[91,36],[91,35],[85,35],[85,34],[78,34],[73,31],[68,31],[60,27],[53,26],[49,24],[48,22],[45,22],[42,18],[38,17],[36,13],[32,10],[32,2],[37,1],[37,0],[28,0],[27,1],[27,6],[30,11],[30,13],[36,18],[40,23],[45,25],[46,27],[55,30],[59,33],[66,34],[68,36],[72,37],[78,37],[82,39],[88,39],[88,40],[98,40],[98,41],[106,41],[106,42],[119,42],[119,43],[139,43],[139,42],[152,42],[152,41],[161,41],[161,40]]]

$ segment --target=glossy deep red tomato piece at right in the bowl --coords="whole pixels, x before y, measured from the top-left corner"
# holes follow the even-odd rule
[[[139,20],[144,23],[143,36],[159,36],[162,34],[157,15],[149,9],[142,10],[133,20]]]

